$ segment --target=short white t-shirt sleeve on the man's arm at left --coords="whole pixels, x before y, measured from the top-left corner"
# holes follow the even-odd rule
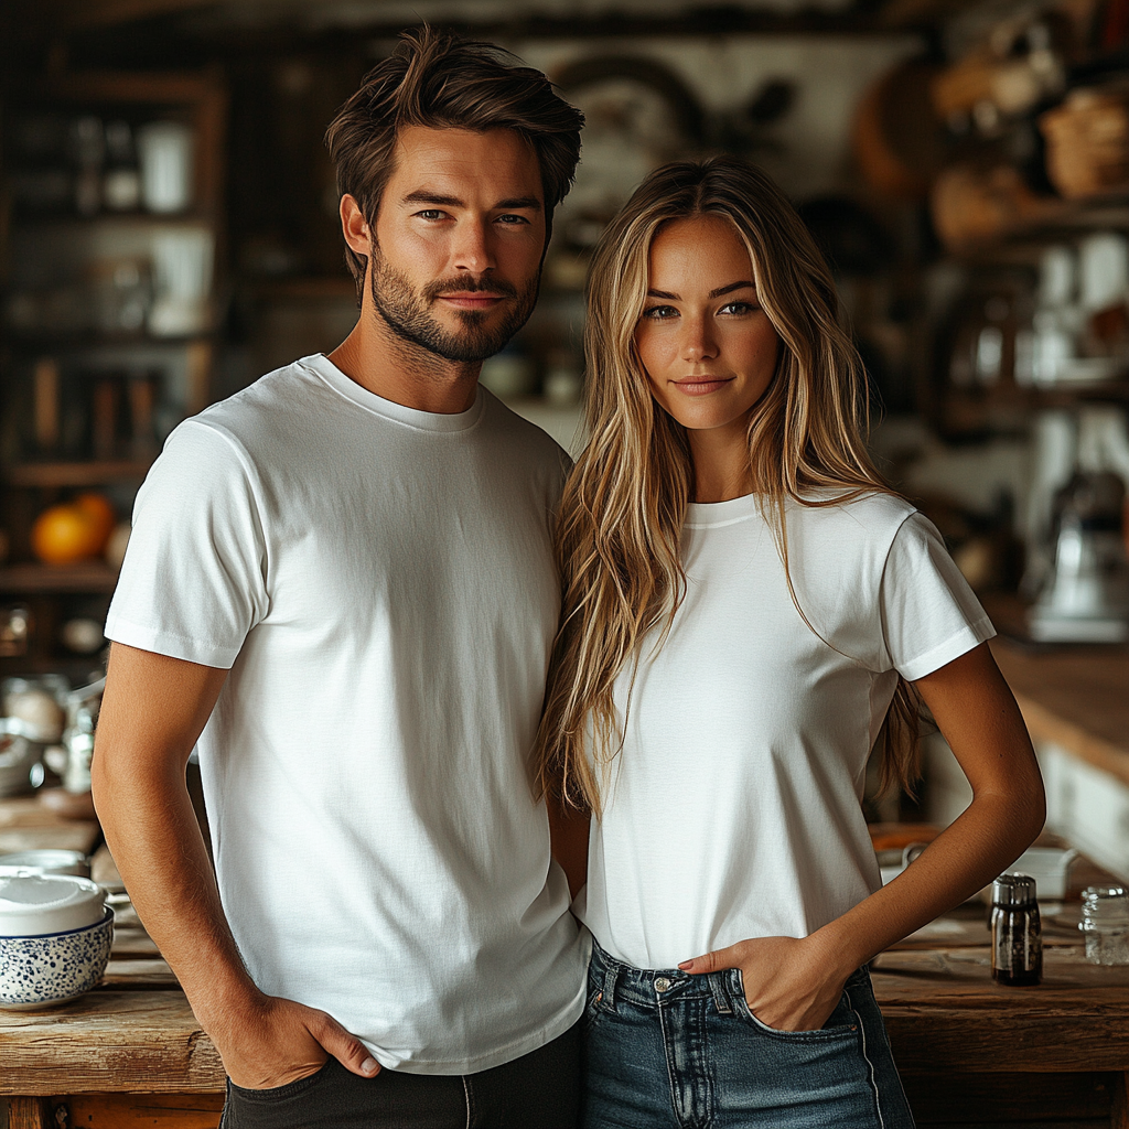
[[[266,614],[266,559],[246,454],[213,427],[182,423],[138,492],[106,637],[229,669]]]

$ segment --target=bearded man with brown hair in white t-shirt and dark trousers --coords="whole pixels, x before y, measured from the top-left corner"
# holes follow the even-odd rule
[[[581,123],[405,36],[326,135],[357,327],[183,423],[138,497],[95,800],[230,1129],[575,1120],[587,954],[526,763],[563,456],[476,380]]]

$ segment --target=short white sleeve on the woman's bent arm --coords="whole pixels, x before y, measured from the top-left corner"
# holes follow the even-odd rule
[[[911,514],[886,557],[882,629],[894,669],[925,677],[990,639],[996,629],[928,518]]]

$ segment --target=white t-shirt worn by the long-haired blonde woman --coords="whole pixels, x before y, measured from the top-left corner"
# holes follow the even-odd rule
[[[805,937],[877,890],[860,800],[898,674],[920,679],[995,634],[901,499],[789,504],[786,519],[819,636],[745,497],[690,506],[686,596],[658,654],[642,648],[576,905],[637,968]],[[625,671],[615,684],[621,719],[630,683]]]

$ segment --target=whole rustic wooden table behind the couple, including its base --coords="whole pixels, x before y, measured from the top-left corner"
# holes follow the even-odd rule
[[[1129,1129],[1129,968],[1051,945],[1040,987],[1000,988],[986,946],[905,949],[874,983],[922,1126]],[[0,1013],[0,1061],[10,1129],[216,1129],[222,1106],[219,1056],[154,957],[115,956],[63,1008]]]

